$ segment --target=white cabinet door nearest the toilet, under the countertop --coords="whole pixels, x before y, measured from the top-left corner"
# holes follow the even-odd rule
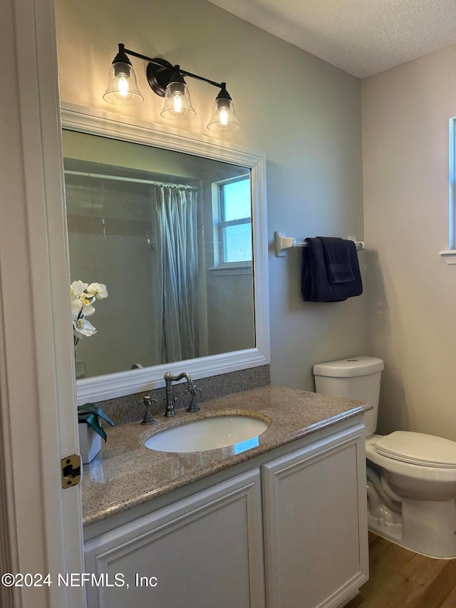
[[[268,608],[338,606],[367,579],[362,429],[264,465]]]

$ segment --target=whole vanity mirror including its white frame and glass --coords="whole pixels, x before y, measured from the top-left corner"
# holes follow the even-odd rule
[[[71,279],[108,292],[75,351],[78,403],[269,364],[264,155],[75,105],[61,117]]]

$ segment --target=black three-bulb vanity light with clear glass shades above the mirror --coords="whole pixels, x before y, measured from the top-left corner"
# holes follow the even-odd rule
[[[220,89],[215,98],[207,128],[219,133],[239,129],[233,101],[227,91],[227,83],[216,83],[208,78],[197,76],[197,74],[182,70],[179,65],[173,66],[166,59],[152,59],[140,53],[135,53],[135,51],[125,48],[123,44],[119,44],[119,52],[110,68],[108,87],[103,95],[105,101],[118,105],[134,105],[143,101],[144,98],[138,89],[135,71],[128,55],[148,62],[146,68],[147,82],[156,95],[165,98],[160,113],[163,118],[180,120],[192,118],[196,115],[184,79],[184,76],[190,76],[190,78],[196,78]]]

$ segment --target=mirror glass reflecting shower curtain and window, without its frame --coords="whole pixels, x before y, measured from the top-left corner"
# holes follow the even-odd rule
[[[106,285],[78,378],[255,346],[248,168],[63,131],[71,280]]]

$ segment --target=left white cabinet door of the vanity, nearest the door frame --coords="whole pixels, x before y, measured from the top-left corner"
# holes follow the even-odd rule
[[[90,572],[129,585],[89,587],[88,608],[262,608],[261,540],[256,470],[86,543]]]

